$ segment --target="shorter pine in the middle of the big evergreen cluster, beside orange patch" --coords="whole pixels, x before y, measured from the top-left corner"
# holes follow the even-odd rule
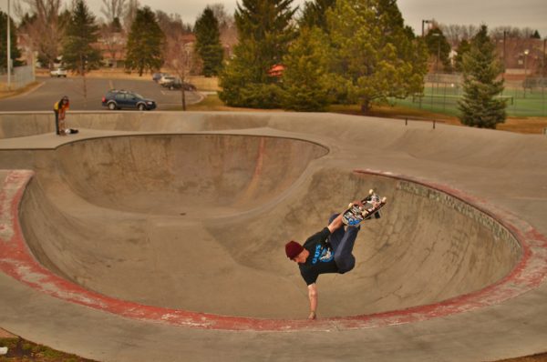
[[[325,33],[304,27],[284,57],[283,107],[294,111],[324,111],[329,103],[325,77]]]

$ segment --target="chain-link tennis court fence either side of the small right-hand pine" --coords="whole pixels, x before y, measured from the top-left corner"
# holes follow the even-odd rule
[[[462,84],[461,75],[428,75],[423,94],[397,100],[396,104],[458,116],[458,101],[463,96]],[[504,85],[500,97],[507,100],[509,116],[547,116],[547,78],[506,80]]]

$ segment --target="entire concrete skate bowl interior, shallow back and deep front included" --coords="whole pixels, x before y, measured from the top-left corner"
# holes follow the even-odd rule
[[[325,147],[302,140],[119,136],[13,152],[19,166],[36,170],[20,212],[36,259],[90,293],[85,304],[115,313],[151,308],[163,321],[178,313],[186,321],[188,311],[209,316],[201,325],[191,319],[198,327],[229,316],[226,328],[254,319],[284,328],[292,322],[282,319],[307,312],[284,243],[320,230],[370,187],[390,204],[363,226],[355,270],[321,277],[322,317],[447,309],[500,285],[521,261],[508,227],[470,200],[322,166]]]

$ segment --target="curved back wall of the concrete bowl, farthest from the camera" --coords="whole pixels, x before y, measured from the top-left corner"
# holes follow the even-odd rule
[[[121,136],[56,151],[57,171],[89,203],[207,219],[254,208],[293,186],[327,149],[259,136]]]

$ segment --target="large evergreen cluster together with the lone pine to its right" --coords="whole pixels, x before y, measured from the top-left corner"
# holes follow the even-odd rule
[[[396,0],[312,0],[294,14],[292,0],[238,3],[239,43],[220,75],[224,103],[296,111],[357,104],[367,113],[374,104],[423,93],[429,55],[440,60],[451,49],[433,40],[444,38],[440,27],[415,35]],[[464,40],[460,119],[495,128],[507,106],[499,56],[486,25]]]

